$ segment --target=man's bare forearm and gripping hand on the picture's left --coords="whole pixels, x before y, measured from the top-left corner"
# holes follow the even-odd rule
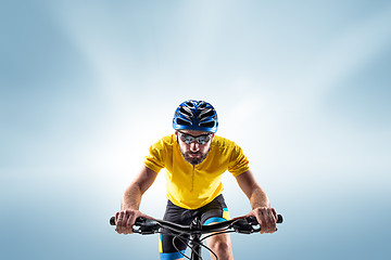
[[[139,211],[142,194],[152,185],[157,172],[143,166],[140,173],[126,188],[121,202],[121,211],[116,212],[116,231],[119,234],[133,233],[133,225],[138,217],[150,218]]]

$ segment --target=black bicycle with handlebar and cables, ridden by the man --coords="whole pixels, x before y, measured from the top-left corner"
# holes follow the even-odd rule
[[[277,223],[282,223],[282,216],[277,214]],[[110,224],[115,225],[115,217],[110,219]],[[168,230],[163,231],[163,229]],[[201,257],[201,248],[204,247],[207,249],[214,257],[218,260],[217,256],[212,251],[211,248],[203,245],[203,240],[213,235],[223,234],[223,233],[241,233],[241,234],[251,234],[261,232],[261,227],[255,219],[255,217],[248,217],[241,219],[232,219],[219,223],[202,225],[201,220],[195,218],[190,225],[180,225],[169,221],[159,220],[159,219],[146,219],[138,218],[136,219],[134,225],[134,233],[138,233],[141,235],[150,235],[156,233],[165,233],[173,235],[175,238],[173,239],[173,245],[175,246],[175,239],[179,239],[187,247],[191,249],[190,258],[182,253],[177,249],[185,258],[190,260],[202,260]],[[213,233],[213,234],[211,234]],[[182,237],[184,234],[190,235],[189,242],[186,242]],[[204,235],[203,238],[201,236]]]

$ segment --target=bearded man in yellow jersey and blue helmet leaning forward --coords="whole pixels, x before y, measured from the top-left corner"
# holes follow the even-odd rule
[[[194,217],[203,224],[229,219],[224,200],[222,174],[229,171],[250,200],[261,233],[276,231],[276,211],[270,208],[266,193],[257,184],[249,161],[235,142],[215,135],[217,113],[207,102],[182,102],[174,114],[175,132],[162,138],[150,147],[144,166],[126,188],[121,210],[116,212],[116,231],[133,232],[138,217],[150,218],[139,211],[142,194],[152,185],[161,169],[165,168],[167,206],[164,220],[190,224]],[[167,234],[160,235],[161,260],[182,259],[186,245]],[[218,234],[206,239],[218,259],[234,259],[229,234]]]

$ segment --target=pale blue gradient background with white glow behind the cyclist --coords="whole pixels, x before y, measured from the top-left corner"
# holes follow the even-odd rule
[[[236,259],[390,258],[390,25],[380,0],[1,1],[0,258],[157,259],[108,220],[186,99],[285,216]],[[141,210],[164,207],[160,176]]]

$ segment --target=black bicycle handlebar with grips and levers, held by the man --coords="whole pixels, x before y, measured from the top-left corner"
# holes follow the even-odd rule
[[[282,216],[277,214],[277,223],[282,223]],[[110,224],[115,225],[115,217],[112,217],[110,219]],[[135,226],[138,229],[134,229],[134,232],[142,235],[148,235],[155,234],[161,227],[164,227],[186,234],[207,234],[212,232],[218,232],[224,229],[234,229],[237,233],[251,234],[261,231],[261,227],[255,227],[256,225],[258,225],[258,222],[256,221],[255,217],[227,220],[214,224],[201,225],[200,227],[194,227],[191,225],[180,225],[159,219],[137,218]]]

